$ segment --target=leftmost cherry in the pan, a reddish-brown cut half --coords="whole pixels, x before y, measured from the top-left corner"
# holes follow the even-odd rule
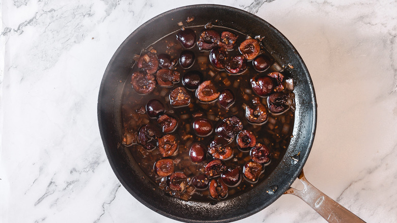
[[[156,88],[156,80],[152,74],[135,71],[131,76],[132,88],[139,94],[149,94]]]

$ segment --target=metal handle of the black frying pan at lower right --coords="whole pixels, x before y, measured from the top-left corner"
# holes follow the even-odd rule
[[[311,185],[306,180],[303,170],[300,172],[298,179],[304,185],[303,190],[290,187],[285,194],[294,194],[299,197],[328,222],[365,222]]]

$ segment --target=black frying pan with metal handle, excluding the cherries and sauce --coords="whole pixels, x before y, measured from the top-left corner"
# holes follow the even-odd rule
[[[194,20],[186,25],[187,17]],[[154,183],[145,177],[138,164],[121,145],[121,101],[125,83],[129,83],[133,55],[156,40],[186,26],[225,26],[251,36],[264,37],[262,44],[281,65],[292,65],[295,83],[295,124],[293,138],[285,155],[270,176],[241,196],[220,202],[182,201],[153,190]],[[129,86],[130,87],[130,86]],[[329,221],[357,221],[360,218],[332,201],[303,175],[316,131],[317,103],[309,72],[294,46],[263,19],[243,10],[220,5],[192,5],[158,15],[139,26],[120,45],[111,58],[101,82],[98,98],[98,122],[106,155],[116,176],[138,201],[164,216],[188,222],[230,222],[264,209],[283,193],[295,194],[317,209]],[[305,189],[290,188],[299,176]],[[333,209],[332,209],[333,208]],[[341,214],[339,214],[341,213]]]

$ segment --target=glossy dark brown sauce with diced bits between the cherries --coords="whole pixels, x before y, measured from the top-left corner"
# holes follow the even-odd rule
[[[190,29],[193,29],[196,32],[196,37],[198,40],[198,37],[200,36],[201,31],[204,29],[204,26],[191,27]],[[212,29],[218,31],[219,34],[222,31],[230,31],[239,36],[234,50],[228,51],[228,53],[231,55],[238,53],[238,47],[240,43],[246,39],[246,35],[225,27],[214,26]],[[149,46],[148,49],[155,49],[157,51],[157,55],[160,53],[167,53],[171,55],[172,58],[178,59],[181,51],[185,50],[185,48],[177,41],[177,32],[178,31],[161,38],[159,41]],[[251,182],[245,178],[243,174],[244,164],[251,160],[249,151],[243,152],[239,150],[236,137],[232,143],[229,144],[229,146],[233,149],[233,157],[223,162],[227,168],[241,168],[241,182],[234,187],[229,186],[227,198],[238,196],[239,194],[254,187],[258,182],[261,182],[263,179],[265,179],[274,170],[281,157],[285,154],[292,137],[292,130],[294,126],[294,108],[292,106],[292,108],[280,115],[273,115],[269,113],[268,120],[263,125],[253,125],[248,123],[245,117],[245,106],[254,107],[251,100],[254,96],[256,96],[256,94],[254,94],[252,91],[249,80],[254,75],[266,75],[272,71],[280,71],[281,67],[275,64],[268,70],[259,73],[253,69],[252,62],[248,61],[248,68],[246,71],[239,75],[231,75],[226,73],[224,70],[218,71],[212,66],[209,61],[209,51],[200,51],[198,50],[197,45],[189,50],[193,51],[195,54],[194,64],[189,69],[184,69],[180,65],[176,67],[176,70],[181,74],[181,81],[176,83],[171,88],[160,87],[156,85],[155,90],[150,94],[140,95],[131,87],[130,81],[126,81],[122,99],[123,128],[124,132],[135,135],[133,144],[128,145],[127,147],[128,151],[131,153],[135,161],[139,163],[140,168],[147,174],[147,177],[149,177],[156,185],[158,185],[158,188],[163,190],[165,194],[169,194],[183,200],[214,202],[216,200],[209,195],[208,187],[203,190],[198,190],[189,183],[191,178],[194,176],[203,174],[205,172],[205,165],[209,161],[213,160],[212,156],[207,153],[204,162],[192,162],[189,157],[189,150],[192,143],[200,142],[204,144],[206,148],[208,148],[210,142],[214,140],[214,136],[216,135],[215,128],[219,122],[224,118],[237,116],[243,124],[243,129],[252,131],[257,136],[257,143],[262,143],[270,149],[271,161],[264,165],[264,172],[260,175],[259,180],[256,182]],[[265,51],[264,53],[271,57],[271,55],[266,52],[265,49],[263,50]],[[132,68],[131,74],[137,70],[139,69],[135,64]],[[195,97],[195,91],[188,90],[191,97],[190,105],[177,108],[173,107],[169,102],[169,92],[177,87],[183,87],[182,77],[187,71],[190,70],[198,70],[202,72],[204,75],[204,80],[212,80],[219,91],[226,88],[230,89],[235,95],[236,100],[234,104],[226,110],[219,105],[217,100],[211,103],[199,102]],[[281,73],[284,74],[286,78],[292,78],[291,75],[286,72],[281,71]],[[290,92],[288,89],[285,91],[292,94],[292,92]],[[156,126],[161,131],[161,127],[157,124],[156,118],[150,118],[147,114],[142,114],[145,111],[147,102],[151,99],[160,100],[164,104],[165,114],[173,116],[178,120],[177,129],[171,133],[177,137],[177,143],[179,145],[178,154],[168,158],[172,158],[174,160],[174,172],[184,172],[188,178],[187,184],[189,186],[187,186],[183,192],[171,190],[167,186],[167,177],[160,177],[155,173],[153,168],[155,162],[163,158],[158,148],[152,151],[147,151],[143,146],[139,145],[135,139],[139,127],[144,124]],[[267,98],[264,97],[260,99],[261,103],[268,108]],[[194,133],[192,128],[192,115],[197,112],[202,112],[204,114],[203,118],[206,118],[212,122],[214,130],[209,136],[200,137]]]

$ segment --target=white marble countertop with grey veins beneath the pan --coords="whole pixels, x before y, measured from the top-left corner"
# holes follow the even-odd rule
[[[175,222],[121,186],[99,135],[97,97],[122,41],[148,19],[216,1],[5,0],[1,5],[0,221]],[[231,1],[297,48],[318,102],[304,166],[367,222],[397,222],[397,1]],[[283,195],[239,222],[325,222]]]

